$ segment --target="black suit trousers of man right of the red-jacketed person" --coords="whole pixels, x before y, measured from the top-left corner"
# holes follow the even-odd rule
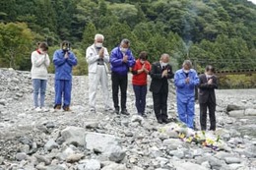
[[[159,93],[153,92],[154,111],[158,120],[165,120],[167,116],[168,92],[160,89]]]

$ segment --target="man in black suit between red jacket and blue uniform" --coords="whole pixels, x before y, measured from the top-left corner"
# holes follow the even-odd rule
[[[173,78],[172,68],[168,64],[169,55],[162,54],[160,62],[152,65],[150,90],[153,93],[154,111],[160,124],[169,123],[167,115],[168,79]]]

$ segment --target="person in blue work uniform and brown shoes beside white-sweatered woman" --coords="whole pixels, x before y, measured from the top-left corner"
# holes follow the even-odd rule
[[[54,109],[70,111],[71,89],[72,89],[72,69],[77,65],[77,57],[70,51],[70,42],[64,40],[61,48],[53,54],[53,64],[55,66],[55,105]]]

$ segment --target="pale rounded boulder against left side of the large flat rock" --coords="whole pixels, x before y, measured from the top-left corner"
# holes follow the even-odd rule
[[[67,127],[61,132],[61,137],[67,144],[81,145],[86,144],[85,129],[78,127]]]

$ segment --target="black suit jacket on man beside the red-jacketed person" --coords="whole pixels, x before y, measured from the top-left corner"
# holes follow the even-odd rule
[[[161,73],[163,70],[168,71],[167,77],[161,77]],[[164,67],[164,69],[161,68],[160,62],[156,62],[152,65],[152,70],[150,72],[152,82],[150,86],[150,90],[154,93],[159,93],[160,89],[162,89],[163,92],[168,92],[168,82],[167,79],[173,78],[172,68],[168,64]]]

